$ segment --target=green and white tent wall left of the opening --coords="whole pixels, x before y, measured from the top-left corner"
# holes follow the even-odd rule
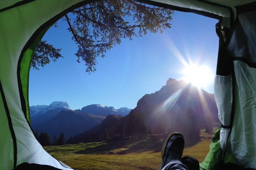
[[[29,124],[28,50],[38,36],[68,10],[90,1],[35,0],[9,1],[0,7],[0,169],[15,169],[21,163],[65,168],[36,140]],[[24,55],[24,57],[23,57]]]

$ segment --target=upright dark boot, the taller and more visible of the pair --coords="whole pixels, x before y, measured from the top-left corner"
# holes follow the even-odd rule
[[[157,168],[160,170],[164,168],[169,162],[173,160],[181,161],[181,157],[184,149],[184,138],[183,135],[179,132],[171,133],[164,142],[164,146],[162,148],[161,156],[162,162]]]

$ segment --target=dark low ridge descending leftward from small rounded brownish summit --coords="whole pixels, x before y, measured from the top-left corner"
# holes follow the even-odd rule
[[[108,115],[106,119],[102,121],[102,123],[90,129],[89,131],[86,131],[82,134],[79,134],[73,137],[73,139],[75,143],[79,143],[81,141],[84,141],[86,143],[98,141],[100,138],[100,135],[104,133],[105,129],[111,127],[113,123],[116,124],[117,122],[119,122],[121,118],[122,116],[118,116],[118,115]]]

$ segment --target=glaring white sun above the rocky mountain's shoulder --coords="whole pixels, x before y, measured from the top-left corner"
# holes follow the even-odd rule
[[[210,69],[206,65],[187,65],[183,71],[183,74],[183,80],[192,83],[194,86],[197,86],[198,88],[206,88],[211,83],[213,83],[214,80],[214,73],[212,69]]]

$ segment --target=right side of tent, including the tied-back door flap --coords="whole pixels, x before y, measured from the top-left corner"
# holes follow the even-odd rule
[[[214,82],[222,122],[218,142],[223,157],[219,161],[256,169],[256,3],[236,8],[231,32],[228,36],[223,34],[227,36],[226,41],[220,37],[218,62],[221,64],[217,64]],[[206,158],[200,164],[201,169],[208,169],[207,162]]]

